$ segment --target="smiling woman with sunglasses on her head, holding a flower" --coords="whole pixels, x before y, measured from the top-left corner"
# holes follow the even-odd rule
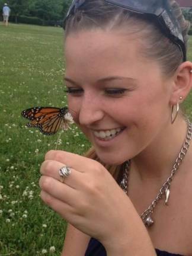
[[[69,222],[62,255],[192,254],[188,27],[174,0],[72,2],[68,105],[92,148],[41,166],[41,197]]]

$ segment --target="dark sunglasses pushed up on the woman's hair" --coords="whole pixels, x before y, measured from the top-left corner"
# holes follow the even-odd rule
[[[81,9],[85,1],[89,0],[73,0],[69,11],[64,20],[64,29],[66,20],[75,14],[77,9]],[[136,12],[153,20],[158,25],[164,36],[168,37],[172,43],[176,44],[181,53],[183,54],[183,60],[186,60],[186,49],[181,32],[180,25],[177,19],[174,17],[171,11],[171,5],[168,0],[104,0],[110,5],[127,9],[132,12]]]

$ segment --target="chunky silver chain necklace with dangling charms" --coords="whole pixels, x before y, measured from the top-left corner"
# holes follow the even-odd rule
[[[153,223],[154,223],[154,220],[152,219],[151,215],[153,213],[153,210],[155,209],[156,204],[159,202],[160,199],[162,199],[162,196],[164,194],[165,194],[165,204],[168,205],[170,184],[171,184],[172,178],[174,177],[175,172],[178,170],[181,163],[183,162],[183,159],[185,157],[185,154],[188,151],[188,148],[189,148],[190,142],[191,142],[192,124],[190,123],[189,120],[187,120],[187,124],[188,124],[188,129],[187,129],[187,134],[185,137],[185,142],[181,148],[180,153],[178,154],[178,156],[175,160],[175,163],[171,170],[171,175],[169,175],[169,177],[167,178],[165,183],[162,185],[162,187],[159,190],[159,193],[157,194],[156,198],[152,201],[152,203],[149,205],[148,209],[144,210],[142,215],[140,215],[140,217],[143,220],[143,223],[148,227],[153,225]],[[126,161],[124,163],[123,178],[120,181],[120,187],[123,189],[124,193],[126,193],[126,194],[127,194],[128,180],[129,180],[130,164],[131,164],[131,161]]]

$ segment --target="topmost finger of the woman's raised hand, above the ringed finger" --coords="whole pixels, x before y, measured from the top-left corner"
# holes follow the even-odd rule
[[[55,160],[81,172],[86,172],[87,166],[91,171],[91,169],[101,165],[97,161],[66,151],[49,151],[46,153],[45,160]]]

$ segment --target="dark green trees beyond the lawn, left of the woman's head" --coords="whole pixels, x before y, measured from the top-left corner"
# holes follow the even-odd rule
[[[17,23],[20,16],[36,17],[42,22],[63,20],[72,0],[0,0],[1,9],[5,2]]]

